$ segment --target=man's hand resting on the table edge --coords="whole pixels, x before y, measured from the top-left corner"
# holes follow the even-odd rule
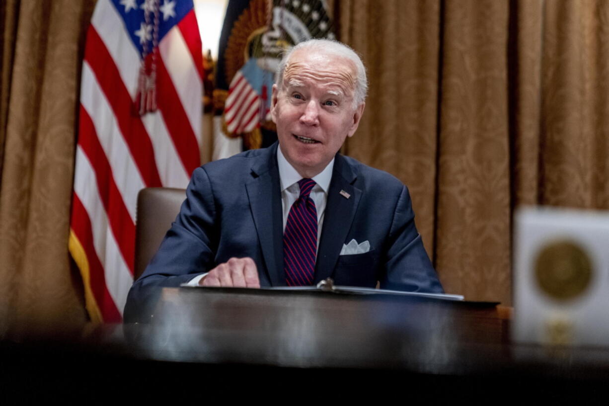
[[[199,280],[206,287],[259,288],[258,268],[252,258],[230,258]]]

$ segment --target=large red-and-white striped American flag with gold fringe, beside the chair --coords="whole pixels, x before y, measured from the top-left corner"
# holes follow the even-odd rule
[[[93,321],[122,319],[138,191],[185,188],[200,165],[202,66],[192,0],[97,1],[82,66],[69,236]]]

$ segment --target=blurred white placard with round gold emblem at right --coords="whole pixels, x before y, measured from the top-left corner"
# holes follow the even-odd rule
[[[609,213],[521,208],[514,238],[513,340],[608,345]]]

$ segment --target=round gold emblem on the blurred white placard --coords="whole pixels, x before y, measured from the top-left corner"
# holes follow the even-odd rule
[[[557,301],[583,294],[592,279],[591,260],[573,241],[554,241],[540,249],[535,260],[538,287]]]

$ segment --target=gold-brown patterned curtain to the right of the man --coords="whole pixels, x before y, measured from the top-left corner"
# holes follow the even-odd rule
[[[345,152],[409,185],[446,291],[510,304],[515,207],[609,208],[609,2],[335,9],[370,77]]]

